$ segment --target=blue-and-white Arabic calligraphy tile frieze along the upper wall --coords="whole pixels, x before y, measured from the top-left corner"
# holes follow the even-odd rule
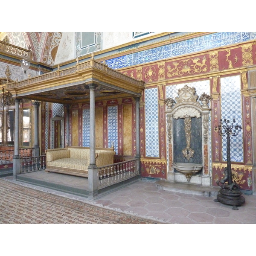
[[[112,58],[106,60],[106,64],[112,69],[119,69],[165,58],[172,58],[183,54],[209,50],[216,47],[238,44],[253,39],[256,39],[256,32],[217,32],[154,49],[147,49],[145,51]]]

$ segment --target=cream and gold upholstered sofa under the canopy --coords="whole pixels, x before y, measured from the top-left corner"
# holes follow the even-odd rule
[[[45,172],[58,172],[69,175],[88,177],[90,148],[73,147],[48,149],[46,153]],[[113,163],[116,154],[113,148],[96,148],[96,166]]]

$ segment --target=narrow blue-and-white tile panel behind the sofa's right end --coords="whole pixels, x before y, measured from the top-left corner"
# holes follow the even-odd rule
[[[108,148],[112,143],[118,154],[118,106],[108,107]]]

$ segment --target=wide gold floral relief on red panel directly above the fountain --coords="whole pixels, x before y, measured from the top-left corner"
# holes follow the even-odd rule
[[[201,72],[206,72],[208,70],[207,64],[206,64],[207,59],[205,56],[203,58],[190,58],[184,61],[179,61],[179,62],[172,62],[172,65],[167,66],[167,76],[169,78],[173,76],[183,76],[183,75],[192,75],[195,73],[201,73]]]

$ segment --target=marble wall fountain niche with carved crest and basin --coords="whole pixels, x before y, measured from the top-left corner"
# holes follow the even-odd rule
[[[211,96],[203,93],[199,101],[194,87],[185,85],[178,96],[167,98],[169,182],[211,186],[209,173],[209,111]]]

